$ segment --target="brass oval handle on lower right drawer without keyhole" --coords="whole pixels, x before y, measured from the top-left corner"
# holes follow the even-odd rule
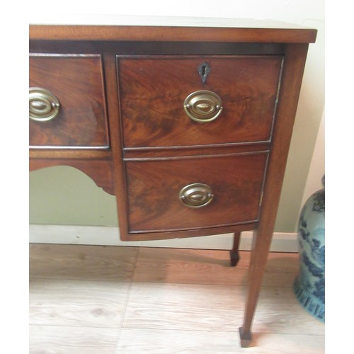
[[[205,207],[210,204],[214,194],[207,184],[193,183],[185,185],[179,192],[179,198],[186,207]]]

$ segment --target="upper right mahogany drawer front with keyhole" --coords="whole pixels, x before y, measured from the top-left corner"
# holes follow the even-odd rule
[[[208,67],[203,69],[203,63]],[[204,84],[198,68],[207,75]],[[273,56],[118,57],[124,146],[268,142],[281,68],[282,57]],[[201,123],[188,116],[185,98],[198,91],[221,99],[215,120]],[[203,109],[202,98],[193,97]]]

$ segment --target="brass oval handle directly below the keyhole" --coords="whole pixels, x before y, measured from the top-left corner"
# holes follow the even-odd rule
[[[195,91],[185,98],[185,113],[195,122],[205,123],[217,119],[222,113],[222,101],[212,91]]]

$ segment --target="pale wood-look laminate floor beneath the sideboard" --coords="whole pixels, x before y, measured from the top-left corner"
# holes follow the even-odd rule
[[[249,252],[30,245],[30,353],[324,353],[297,302],[296,253],[270,253],[241,348]]]

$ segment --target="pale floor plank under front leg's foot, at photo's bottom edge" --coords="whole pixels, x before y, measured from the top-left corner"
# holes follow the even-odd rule
[[[241,348],[238,331],[122,329],[116,354],[322,354],[324,336],[253,333],[255,346]]]

